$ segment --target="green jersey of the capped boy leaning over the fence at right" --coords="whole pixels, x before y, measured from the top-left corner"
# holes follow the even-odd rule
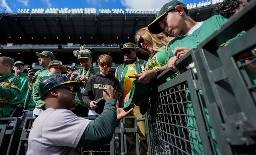
[[[221,25],[223,25],[227,20],[228,20],[227,18],[225,18],[221,15],[214,15],[211,18],[207,19],[206,21],[203,21],[201,23],[202,25],[200,25],[198,27],[196,27],[197,26],[196,25],[195,26],[196,28],[192,28],[192,29],[194,29],[194,31],[192,33],[190,33],[188,35],[185,35],[185,36],[175,38],[174,40],[172,40],[169,43],[168,57],[170,58],[170,57],[174,56],[173,51],[176,47],[186,47],[188,49],[196,48],[200,43],[202,43],[206,38],[208,38],[208,36],[210,36],[213,32],[215,32],[215,30],[217,30]],[[238,38],[243,33],[244,32],[241,32],[235,38]],[[226,43],[230,43],[235,38],[227,41]],[[187,66],[186,69],[187,70],[192,69],[194,71],[194,73],[196,74],[196,69],[195,69],[195,66],[194,66],[194,62],[192,64],[190,64],[189,66]],[[202,91],[199,91],[199,92],[200,92],[200,95],[203,95]],[[187,91],[187,94],[188,94],[188,98],[190,98],[189,90]],[[203,105],[205,105],[205,103]],[[211,122],[210,122],[210,119],[209,119],[208,109],[206,107],[204,107],[204,111],[206,113],[206,118],[207,118],[208,124],[210,126],[210,131],[211,131],[211,135],[212,135],[213,142],[214,142],[214,145],[215,145],[215,149],[216,149],[217,153],[220,154],[219,153],[219,148],[217,147],[217,144],[216,144],[216,141],[215,141],[215,134],[213,132],[213,128],[211,126]],[[193,109],[193,106],[192,106],[191,102],[187,104],[187,114],[188,115],[194,115],[194,109]],[[187,119],[188,119],[188,127],[190,129],[194,129],[194,128],[198,129],[196,119],[194,117],[187,117]],[[192,142],[194,142],[195,144],[199,143],[199,144],[202,145],[202,141],[200,139],[199,132],[195,131],[195,130],[189,130],[189,132],[190,132],[190,140]],[[202,155],[205,154],[202,147],[199,148],[197,145],[193,145],[193,144],[192,144],[191,147],[194,150],[193,154],[196,154],[196,155],[200,154],[200,149],[201,149]]]

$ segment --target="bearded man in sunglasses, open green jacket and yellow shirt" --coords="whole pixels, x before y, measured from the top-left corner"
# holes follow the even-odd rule
[[[145,71],[145,66],[147,61],[140,60],[136,57],[136,46],[134,43],[124,43],[123,47],[120,49],[124,55],[124,63],[116,68],[115,77],[120,82],[121,92],[122,92],[122,102],[121,107],[124,107],[124,99],[132,89],[133,81],[135,78],[130,78],[128,76],[134,76],[135,74],[140,74]],[[136,103],[135,103],[136,104]],[[140,107],[135,106],[134,110],[130,113],[130,116],[136,116],[137,118],[142,118],[144,115],[140,113]],[[140,147],[143,155],[147,153],[147,140],[146,140],[146,130],[145,122],[137,122],[139,130]],[[126,121],[126,127],[132,127],[132,120]],[[135,154],[135,138],[133,134],[127,134],[128,142],[128,154]]]

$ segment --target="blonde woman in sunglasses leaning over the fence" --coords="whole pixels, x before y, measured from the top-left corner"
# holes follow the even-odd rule
[[[147,27],[141,28],[135,34],[135,41],[144,53],[149,54],[149,60],[145,66],[146,70],[160,68],[167,64],[167,47],[174,37],[165,34],[151,34]],[[167,66],[165,67],[165,69]],[[160,74],[160,72],[159,72]]]

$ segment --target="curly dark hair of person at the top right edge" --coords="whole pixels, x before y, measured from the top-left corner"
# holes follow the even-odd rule
[[[234,15],[235,10],[239,8],[242,2],[240,0],[224,0],[214,10],[214,15],[222,15],[223,17],[230,18]]]

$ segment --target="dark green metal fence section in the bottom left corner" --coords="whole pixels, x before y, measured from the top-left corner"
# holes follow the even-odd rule
[[[12,122],[11,122],[12,121]],[[0,118],[0,154],[14,155],[17,151],[18,129],[21,119]],[[10,126],[10,123],[13,123]]]

